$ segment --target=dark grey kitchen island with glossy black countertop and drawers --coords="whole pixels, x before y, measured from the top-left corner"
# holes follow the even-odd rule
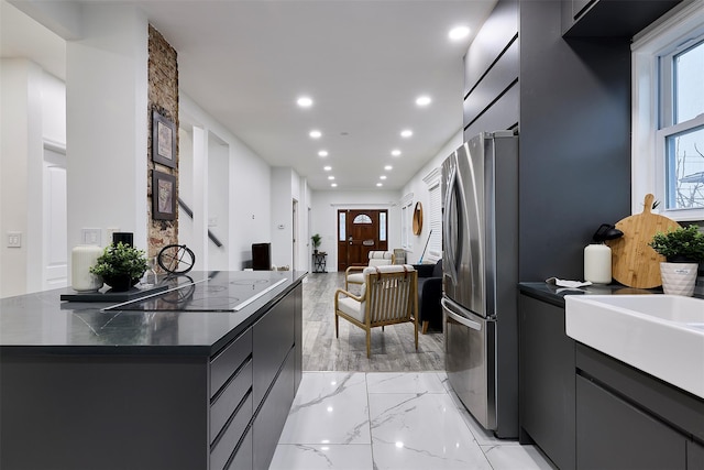
[[[300,272],[125,305],[0,300],[0,468],[265,469],[301,378]]]

